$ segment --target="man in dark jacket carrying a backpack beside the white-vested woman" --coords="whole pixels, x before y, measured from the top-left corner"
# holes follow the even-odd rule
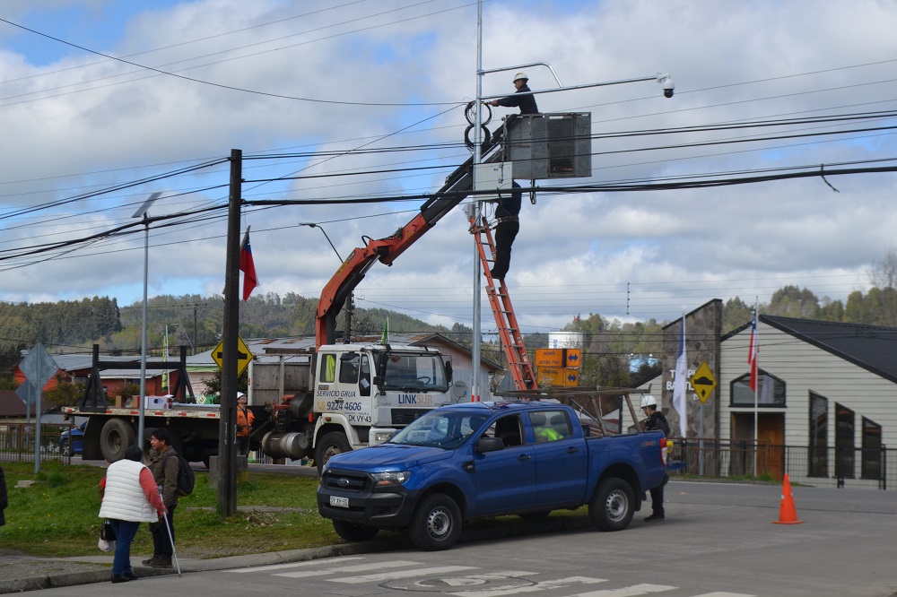
[[[171,436],[166,428],[158,428],[152,432],[150,446],[147,465],[161,491],[162,504],[165,505],[167,512],[158,523],[150,524],[152,558],[144,559],[143,564],[154,568],[170,568],[171,556],[174,554],[172,541],[174,541],[174,511],[178,506],[180,458],[171,447]]]

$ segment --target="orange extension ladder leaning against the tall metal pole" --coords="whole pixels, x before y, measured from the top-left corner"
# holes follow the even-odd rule
[[[523,344],[523,336],[514,315],[514,307],[510,304],[508,287],[503,280],[492,278],[492,262],[495,261],[495,243],[492,241],[492,230],[489,222],[483,218],[482,224],[477,225],[476,217],[470,218],[470,233],[474,235],[476,250],[480,255],[480,263],[483,265],[483,274],[486,276],[486,296],[492,307],[492,316],[498,326],[501,348],[508,359],[508,368],[511,379],[518,390],[536,390],[536,373],[529,361],[527,347]],[[488,247],[488,254],[486,248]]]

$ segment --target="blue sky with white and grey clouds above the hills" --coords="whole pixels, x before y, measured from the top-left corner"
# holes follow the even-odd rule
[[[434,192],[470,156],[478,51],[497,71],[481,77],[483,97],[514,91],[512,72],[532,65],[542,112],[591,114],[591,177],[537,180],[536,203],[524,198],[506,281],[525,333],[593,313],[672,321],[710,299],[763,304],[788,284],[832,300],[868,290],[893,248],[895,174],[836,172],[897,163],[897,4],[488,0],[481,48],[477,11],[474,0],[5,0],[0,300],[132,305],[144,242],[150,297],[221,295],[232,149],[247,158],[254,296],[318,297],[353,247],[422,203],[340,201]],[[623,82],[657,74],[672,76],[673,98],[654,80]],[[600,82],[622,83],[588,86]],[[547,92],[559,87],[578,89]],[[514,111],[493,108],[490,129]],[[831,118],[846,115],[860,117]],[[783,173],[814,176],[619,190]],[[153,221],[146,241],[133,215],[156,192],[150,217],[181,216]],[[474,257],[461,205],[391,267],[375,264],[356,306],[469,326]]]

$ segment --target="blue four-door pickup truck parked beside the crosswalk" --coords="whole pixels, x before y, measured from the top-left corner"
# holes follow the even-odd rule
[[[557,402],[471,402],[423,415],[379,446],[337,454],[321,473],[318,512],[348,541],[406,528],[419,549],[448,549],[464,520],[540,517],[588,504],[620,531],[644,492],[665,482],[661,432],[586,437]]]

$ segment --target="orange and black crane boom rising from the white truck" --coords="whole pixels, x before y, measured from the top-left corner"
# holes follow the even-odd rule
[[[491,152],[484,162],[501,159],[501,151],[493,150],[501,144],[503,137],[503,134],[495,134],[491,141],[483,143],[483,156]],[[361,238],[364,247],[355,247],[324,286],[324,290],[321,290],[315,321],[315,343],[318,347],[335,342],[336,316],[344,307],[345,299],[361,283],[370,267],[377,261],[392,265],[396,257],[402,255],[444,215],[464,201],[474,186],[473,173],[474,158],[471,157],[448,175],[445,185],[422,204],[421,212],[405,226],[386,238]]]

